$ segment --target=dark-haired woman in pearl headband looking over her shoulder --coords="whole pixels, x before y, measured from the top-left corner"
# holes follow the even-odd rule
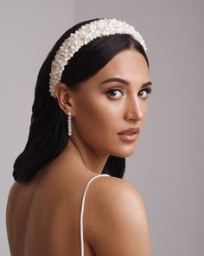
[[[97,18],[49,52],[14,163],[11,255],[151,255],[143,199],[123,180],[151,92],[145,50],[131,25]]]

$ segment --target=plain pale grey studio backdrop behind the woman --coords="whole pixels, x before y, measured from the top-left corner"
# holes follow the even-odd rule
[[[153,255],[202,255],[204,2],[18,0],[0,4],[0,254],[10,255],[6,200],[13,163],[28,139],[41,63],[74,23],[110,16],[133,24],[149,49],[153,90],[124,179],[143,196]]]

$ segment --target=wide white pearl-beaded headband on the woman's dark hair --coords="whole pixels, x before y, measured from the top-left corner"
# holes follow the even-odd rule
[[[147,47],[143,41],[143,37],[129,23],[118,21],[115,18],[103,18],[91,23],[86,23],[80,29],[71,33],[70,36],[61,44],[60,49],[54,56],[54,61],[51,64],[51,72],[49,73],[49,92],[54,98],[55,88],[61,82],[61,75],[65,66],[74,53],[77,52],[83,45],[90,43],[93,39],[101,36],[109,36],[114,34],[131,34],[138,43],[143,46],[146,51]]]

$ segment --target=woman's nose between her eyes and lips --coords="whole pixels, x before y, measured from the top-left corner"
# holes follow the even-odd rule
[[[126,102],[125,120],[141,121],[144,116],[144,102],[137,95],[129,97]]]

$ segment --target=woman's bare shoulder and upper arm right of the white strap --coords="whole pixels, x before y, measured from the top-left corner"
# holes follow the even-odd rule
[[[97,180],[90,194],[95,206],[90,244],[96,255],[152,255],[147,215],[136,187],[115,177]]]

